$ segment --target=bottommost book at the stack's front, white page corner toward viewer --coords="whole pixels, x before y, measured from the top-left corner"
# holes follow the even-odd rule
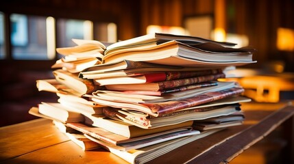
[[[174,150],[175,148],[179,148],[180,146],[191,143],[192,141],[201,139],[208,135],[212,135],[213,133],[217,133],[218,131],[221,131],[221,130],[222,129],[219,128],[219,129],[212,129],[209,131],[203,131],[198,135],[180,137],[177,139],[157,143],[152,146],[147,146],[144,148],[139,148],[139,149],[134,149],[129,151],[121,151],[121,150],[111,148],[108,146],[102,146],[102,148],[105,148],[106,150],[112,152],[113,154],[121,157],[121,159],[124,159],[128,163],[147,163],[148,161],[151,161],[152,159],[155,159],[156,157],[161,156],[162,154],[166,154],[167,152],[170,152],[171,150]]]

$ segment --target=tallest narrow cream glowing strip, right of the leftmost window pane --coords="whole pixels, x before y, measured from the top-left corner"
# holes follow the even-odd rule
[[[46,34],[47,34],[47,57],[54,59],[56,57],[56,32],[55,19],[51,16],[46,18]]]

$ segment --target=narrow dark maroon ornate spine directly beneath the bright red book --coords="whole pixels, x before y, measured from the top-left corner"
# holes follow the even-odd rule
[[[172,81],[161,81],[158,82],[159,90],[166,90],[168,88],[173,87],[181,87],[185,85],[192,85],[195,83],[204,83],[208,81],[215,81],[217,79],[225,78],[225,74],[210,74],[206,76],[200,76],[200,77],[192,77],[187,79],[177,79]]]

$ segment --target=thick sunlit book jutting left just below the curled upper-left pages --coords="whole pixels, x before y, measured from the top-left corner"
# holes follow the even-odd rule
[[[93,84],[93,81],[88,79],[81,79],[78,77],[78,74],[73,74],[67,72],[66,70],[53,70],[53,75],[56,77],[56,80],[67,87],[75,90],[78,96],[83,94],[89,94],[97,90],[98,86]]]

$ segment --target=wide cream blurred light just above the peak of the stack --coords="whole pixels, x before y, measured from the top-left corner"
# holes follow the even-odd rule
[[[183,27],[149,25],[147,27],[147,34],[149,33],[171,33],[175,35],[186,35],[187,32]]]

